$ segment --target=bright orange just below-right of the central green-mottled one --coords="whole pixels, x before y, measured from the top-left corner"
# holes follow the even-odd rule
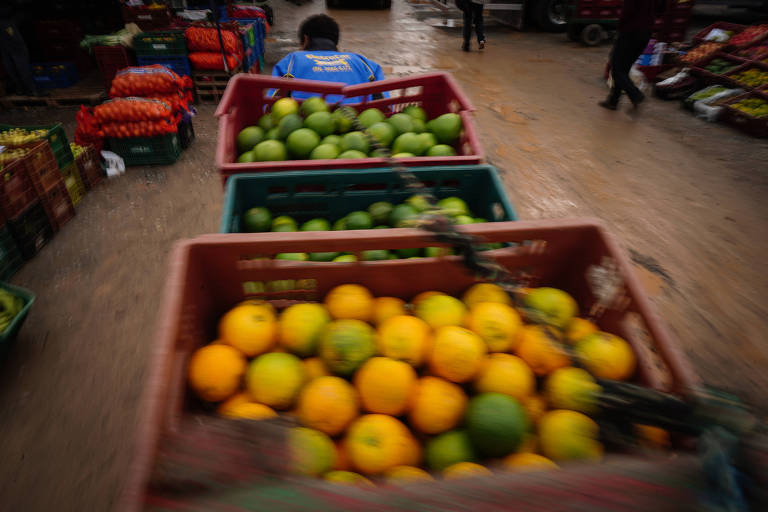
[[[355,374],[355,387],[366,411],[399,416],[416,390],[416,372],[403,361],[374,357]]]

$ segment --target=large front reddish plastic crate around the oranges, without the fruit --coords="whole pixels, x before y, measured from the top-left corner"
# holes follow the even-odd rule
[[[520,221],[474,224],[461,228],[462,232],[475,236],[481,243],[511,244],[487,254],[493,255],[496,262],[522,279],[525,285],[560,288],[576,299],[585,314],[590,311],[601,312],[595,320],[600,329],[623,337],[634,349],[638,366],[633,382],[653,389],[683,393],[699,384],[697,376],[632,273],[628,257],[599,221]],[[245,468],[253,470],[254,465],[266,468],[275,461],[284,463],[286,447],[284,436],[282,439],[280,437],[282,427],[279,422],[233,423],[230,420],[217,420],[206,414],[210,408],[206,408],[187,391],[186,368],[190,354],[215,338],[218,320],[224,312],[247,298],[268,300],[277,307],[318,301],[330,289],[345,283],[361,284],[374,296],[408,300],[425,290],[457,295],[477,282],[457,256],[307,264],[249,261],[251,255],[338,250],[360,253],[366,250],[429,247],[435,244],[429,234],[413,229],[205,235],[177,244],[171,255],[170,273],[159,313],[155,352],[142,401],[144,416],[137,422],[140,430],[133,452],[135,458],[124,488],[124,510],[142,510],[145,507],[153,509],[153,506],[162,508],[169,503],[188,510],[202,510],[216,500],[217,490],[226,491],[227,486],[232,490],[237,485],[240,487],[234,489],[235,493],[239,490],[250,495],[251,500],[256,500],[251,501],[251,505],[260,502],[260,492],[268,492],[269,489],[277,492],[271,494],[270,498],[264,498],[269,500],[267,507],[271,506],[273,510],[345,510],[347,505],[352,507],[350,510],[357,505],[359,510],[365,509],[366,505],[373,506],[376,500],[387,503],[394,510],[413,510],[418,508],[417,503],[425,506],[426,503],[432,503],[434,506],[436,502],[433,493],[445,498],[445,501],[439,501],[445,507],[438,506],[437,509],[452,508],[449,503],[469,505],[467,500],[473,506],[478,506],[481,501],[490,505],[487,500],[495,500],[496,507],[493,509],[514,507],[515,510],[554,510],[547,507],[534,508],[533,503],[541,502],[531,498],[536,496],[539,500],[548,499],[552,486],[560,491],[558,500],[563,499],[563,494],[569,491],[584,492],[584,486],[597,492],[597,487],[603,485],[600,477],[596,476],[601,472],[604,475],[611,473],[614,478],[622,474],[626,477],[626,472],[622,473],[610,465],[610,459],[606,466],[575,464],[570,470],[566,467],[562,471],[546,474],[545,480],[550,485],[543,488],[547,492],[537,494],[532,493],[531,489],[530,478],[535,477],[520,474],[497,474],[493,477],[430,483],[412,488],[387,486],[357,490],[345,486],[334,487],[317,480],[286,477],[274,472],[242,471]],[[616,289],[618,293],[614,296],[616,300],[610,303],[598,304],[596,301],[596,286],[599,283],[594,280],[594,276],[598,269],[614,269],[620,277]],[[652,351],[658,359],[652,355]],[[217,444],[217,434],[221,432],[217,428],[221,422],[238,426],[244,437],[247,434],[247,440],[251,443],[249,447],[244,449],[237,443],[230,443],[225,450],[224,445]],[[285,429],[282,428],[282,431]],[[218,440],[222,439],[227,441],[226,436],[219,436]],[[258,458],[253,457],[251,449],[258,453]],[[683,499],[686,489],[663,488],[664,485],[671,487],[670,481],[654,479],[659,471],[677,467],[676,463],[681,460],[690,461],[685,457],[684,454],[678,455],[677,459],[673,459],[676,462],[664,458],[665,462],[659,466],[657,462],[647,461],[637,455],[616,455],[614,460],[634,464],[634,467],[645,464],[647,470],[645,485],[639,483],[643,480],[639,479],[635,481],[637,485],[633,486],[632,479],[628,478],[619,486],[621,496],[627,496],[627,493],[634,497],[640,496],[639,501],[622,500],[622,506],[627,506],[628,510],[628,504],[632,503],[639,510],[652,509],[642,506],[658,497],[657,492],[648,492],[649,474],[654,474],[652,481],[659,484],[663,482],[661,486],[654,486],[655,489],[673,494],[678,492],[680,494],[676,496]],[[156,462],[159,463],[157,467]],[[153,470],[159,471],[154,473],[154,478]],[[580,478],[574,479],[574,471],[580,474]],[[621,480],[621,476],[618,478]],[[233,480],[237,480],[237,483]],[[201,482],[204,482],[203,487],[198,485]],[[433,485],[435,487],[431,487]],[[610,487],[612,484],[606,485]],[[185,488],[195,489],[195,492],[184,494]],[[204,492],[206,488],[210,495]],[[538,488],[542,489],[540,485]],[[518,499],[527,496],[529,501],[517,501],[515,494]],[[605,504],[606,498],[600,496],[599,492],[597,494],[597,500],[589,503]],[[584,495],[594,496],[593,492],[586,492],[577,498],[581,500],[579,502],[584,501]],[[226,492],[219,496],[229,503],[232,510],[239,510],[234,507],[235,504],[245,507],[248,503],[243,500],[243,495],[235,501],[228,500],[231,496]],[[346,505],[338,508],[332,506],[336,500],[342,499]],[[669,493],[666,493],[665,499],[669,499]],[[691,499],[690,494],[688,499]],[[547,503],[552,504],[552,501]],[[613,510],[624,509],[619,507]]]

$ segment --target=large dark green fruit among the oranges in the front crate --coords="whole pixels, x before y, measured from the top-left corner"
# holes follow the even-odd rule
[[[464,421],[472,446],[485,457],[503,457],[515,451],[530,426],[520,402],[502,393],[473,397]]]

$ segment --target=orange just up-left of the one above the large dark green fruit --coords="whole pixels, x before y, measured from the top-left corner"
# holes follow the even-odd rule
[[[485,354],[485,343],[469,329],[441,327],[435,331],[430,369],[452,382],[467,382],[477,375]]]

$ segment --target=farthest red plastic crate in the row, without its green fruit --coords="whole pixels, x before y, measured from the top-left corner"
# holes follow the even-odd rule
[[[472,165],[483,161],[484,153],[477,136],[471,113],[474,107],[447,73],[429,73],[406,78],[390,78],[378,82],[345,86],[335,82],[275,78],[262,75],[237,74],[232,77],[224,96],[216,109],[219,118],[219,138],[216,146],[216,168],[226,182],[233,174],[244,172],[353,169],[381,167],[383,158],[359,158],[348,160],[288,160],[285,162],[235,163],[237,150],[235,137],[244,127],[256,124],[265,108],[277,97],[268,98],[269,89],[305,91],[324,97],[342,95],[348,98],[363,97],[389,91],[393,97],[351,104],[357,111],[377,107],[382,111],[402,110],[407,105],[418,104],[431,119],[446,112],[461,116],[464,132],[456,145],[457,156],[404,158],[408,166],[420,165]],[[396,95],[396,96],[395,96]]]

